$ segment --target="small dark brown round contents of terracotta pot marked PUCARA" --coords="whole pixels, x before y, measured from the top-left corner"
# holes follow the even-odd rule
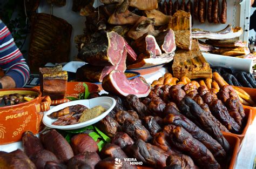
[[[11,106],[20,103],[29,102],[32,99],[35,99],[35,96],[31,96],[31,94],[5,94],[4,96],[0,96],[0,105],[1,106]]]

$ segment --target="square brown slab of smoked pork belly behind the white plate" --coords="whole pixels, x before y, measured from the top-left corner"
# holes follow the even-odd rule
[[[52,100],[64,98],[68,72],[62,71],[61,65],[39,68],[39,77],[43,96],[50,96]]]

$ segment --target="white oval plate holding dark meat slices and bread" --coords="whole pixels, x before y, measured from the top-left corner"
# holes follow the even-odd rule
[[[52,119],[52,118],[48,117],[47,115],[51,114],[52,112],[56,112],[58,110],[64,109],[65,107],[73,106],[73,105],[77,105],[77,104],[84,105],[84,106],[88,107],[89,109],[92,107],[95,107],[95,106],[103,106],[106,109],[106,111],[104,113],[100,114],[99,116],[97,116],[96,118],[85,121],[83,123],[66,125],[66,126],[52,125],[52,123],[54,121],[56,121],[57,119]],[[80,128],[95,124],[99,120],[106,117],[107,114],[109,114],[109,112],[114,108],[114,106],[116,106],[116,100],[114,100],[111,97],[96,97],[93,99],[76,100],[76,101],[72,101],[72,102],[67,102],[67,103],[57,105],[57,106],[53,107],[52,109],[50,109],[48,112],[46,112],[43,117],[43,123],[44,123],[44,125],[46,125],[48,127],[51,127],[54,129],[60,129],[60,130],[80,129]]]

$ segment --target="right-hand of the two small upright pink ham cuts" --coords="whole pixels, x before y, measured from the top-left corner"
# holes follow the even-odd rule
[[[176,50],[175,35],[172,29],[159,33],[156,40],[164,53],[172,53]]]

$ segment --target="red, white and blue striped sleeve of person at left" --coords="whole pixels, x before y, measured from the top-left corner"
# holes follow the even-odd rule
[[[29,66],[21,51],[17,48],[14,38],[0,19],[0,67],[5,76],[14,79],[16,87],[23,87],[29,79]]]

